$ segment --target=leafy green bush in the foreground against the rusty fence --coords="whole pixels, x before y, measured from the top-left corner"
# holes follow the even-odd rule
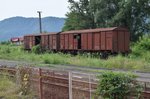
[[[99,84],[97,95],[104,99],[128,99],[127,96],[135,94],[138,98],[141,87],[136,83],[135,76],[121,72],[103,72],[98,76]]]

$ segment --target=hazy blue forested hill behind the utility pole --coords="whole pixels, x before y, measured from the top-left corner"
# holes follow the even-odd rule
[[[42,30],[44,32],[61,31],[64,23],[65,18],[45,17],[42,18]],[[38,18],[12,17],[0,21],[0,41],[31,33],[39,33]]]

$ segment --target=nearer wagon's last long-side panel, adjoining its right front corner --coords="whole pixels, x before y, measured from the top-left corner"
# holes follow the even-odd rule
[[[106,32],[106,50],[112,50],[112,32]]]

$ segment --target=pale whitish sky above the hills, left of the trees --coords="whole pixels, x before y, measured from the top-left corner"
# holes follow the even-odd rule
[[[69,11],[68,0],[0,0],[0,20],[15,17],[65,17]]]

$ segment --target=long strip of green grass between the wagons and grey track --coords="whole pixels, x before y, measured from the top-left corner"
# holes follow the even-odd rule
[[[129,56],[118,55],[102,60],[87,55],[72,56],[62,53],[35,54],[24,51],[20,46],[0,45],[0,59],[18,60],[26,62],[36,62],[39,64],[68,64],[87,67],[125,69],[125,70],[150,70],[150,52],[144,52],[137,57],[133,54]]]

